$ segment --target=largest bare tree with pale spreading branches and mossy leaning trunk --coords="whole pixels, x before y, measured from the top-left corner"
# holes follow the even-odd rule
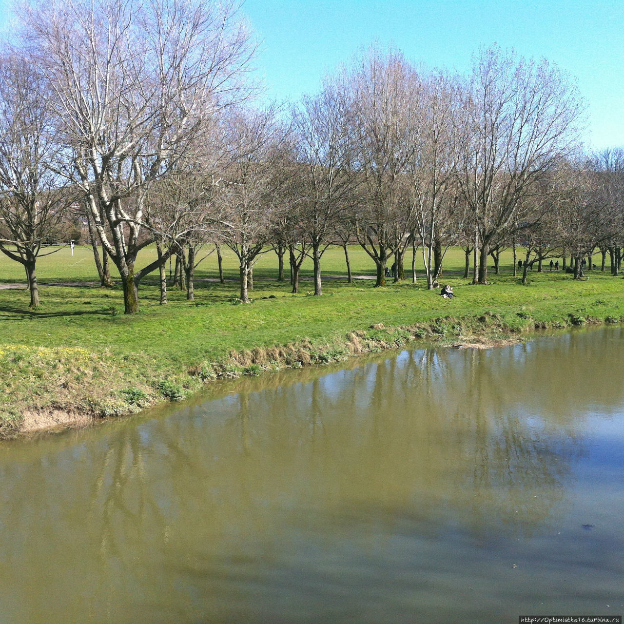
[[[125,313],[135,313],[140,279],[173,253],[135,268],[154,241],[141,237],[147,190],[197,142],[206,119],[248,95],[241,79],[254,45],[231,0],[38,2],[26,18],[30,53],[73,152],[71,177],[119,270]]]

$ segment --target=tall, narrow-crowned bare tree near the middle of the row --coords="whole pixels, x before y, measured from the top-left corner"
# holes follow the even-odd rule
[[[375,263],[375,286],[383,286],[388,258],[410,231],[413,205],[406,193],[406,172],[419,82],[401,54],[374,47],[344,80],[351,92],[351,163],[361,183],[355,233]]]

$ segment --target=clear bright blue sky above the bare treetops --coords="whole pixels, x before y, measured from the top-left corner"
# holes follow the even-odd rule
[[[6,24],[0,0],[0,27]],[[624,145],[624,0],[245,0],[271,97],[297,99],[373,41],[415,62],[467,71],[497,42],[545,56],[578,80],[589,147]]]

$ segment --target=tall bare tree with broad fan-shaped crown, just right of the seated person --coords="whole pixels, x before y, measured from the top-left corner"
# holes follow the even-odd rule
[[[487,283],[490,243],[522,221],[519,210],[540,178],[577,149],[581,114],[576,87],[545,59],[498,47],[475,59],[457,114],[457,179],[477,226],[478,283]]]

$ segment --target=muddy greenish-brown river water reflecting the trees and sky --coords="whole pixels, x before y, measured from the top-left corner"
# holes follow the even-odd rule
[[[624,329],[270,374],[0,446],[0,622],[624,612]]]

